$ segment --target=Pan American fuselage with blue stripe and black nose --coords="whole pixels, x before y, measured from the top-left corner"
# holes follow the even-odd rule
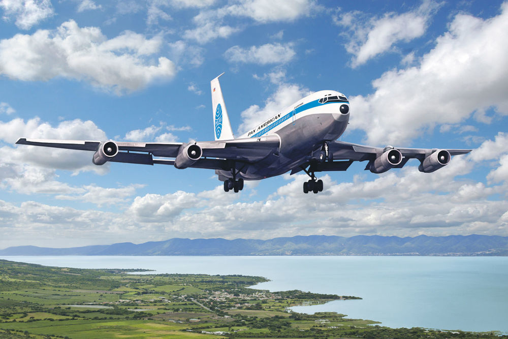
[[[349,102],[337,91],[322,90],[297,101],[240,137],[275,135],[280,145],[265,159],[246,164],[237,176],[259,180],[280,175],[308,162],[315,152],[321,151],[326,141],[336,140],[342,135],[349,116]],[[217,170],[217,174],[219,179],[231,177],[228,171]]]

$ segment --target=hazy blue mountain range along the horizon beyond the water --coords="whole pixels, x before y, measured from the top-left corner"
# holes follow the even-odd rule
[[[269,240],[182,239],[93,245],[67,249],[15,246],[0,250],[3,256],[279,256],[279,255],[416,255],[507,256],[508,237],[450,235],[400,238],[357,235],[353,237],[309,235]]]

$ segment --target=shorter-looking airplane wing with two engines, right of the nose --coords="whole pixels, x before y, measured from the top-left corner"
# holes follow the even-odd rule
[[[333,160],[369,161],[365,169],[373,173],[402,168],[409,159],[418,159],[419,170],[430,173],[447,165],[452,156],[470,151],[471,149],[372,147],[343,141],[329,143],[329,153]]]

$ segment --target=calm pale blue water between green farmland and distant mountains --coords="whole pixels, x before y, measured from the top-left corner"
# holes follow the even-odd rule
[[[4,256],[59,267],[143,268],[148,273],[259,275],[254,288],[351,295],[292,307],[383,326],[508,333],[508,257],[416,256]]]

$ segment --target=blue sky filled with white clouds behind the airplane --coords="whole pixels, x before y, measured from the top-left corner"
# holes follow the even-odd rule
[[[508,3],[0,0],[0,248],[294,235],[508,236]],[[468,148],[434,172],[355,163],[225,193],[212,170],[93,165],[20,137],[213,140],[300,98],[351,102],[342,141]]]

